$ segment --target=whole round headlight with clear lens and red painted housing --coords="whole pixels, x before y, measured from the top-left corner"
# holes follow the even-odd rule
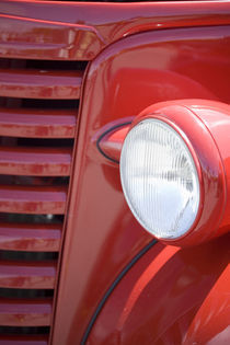
[[[120,179],[140,225],[175,245],[229,231],[230,106],[211,101],[158,103],[134,120]]]

